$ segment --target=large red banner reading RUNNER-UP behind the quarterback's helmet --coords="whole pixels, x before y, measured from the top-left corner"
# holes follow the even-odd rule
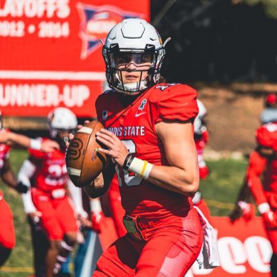
[[[46,116],[69,107],[96,116],[105,88],[100,39],[129,17],[150,18],[149,0],[0,1],[0,107]]]

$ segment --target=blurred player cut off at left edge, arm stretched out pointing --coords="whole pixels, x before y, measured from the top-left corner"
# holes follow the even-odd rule
[[[15,179],[10,167],[10,147],[32,148],[42,151],[53,151],[59,148],[55,141],[41,141],[30,139],[28,136],[15,134],[3,128],[3,117],[0,111],[0,175],[4,183],[17,190],[18,193],[27,193],[28,186]],[[0,190],[0,267],[6,262],[12,249],[15,247],[15,229],[13,224],[12,211],[10,206],[3,199],[3,192]]]

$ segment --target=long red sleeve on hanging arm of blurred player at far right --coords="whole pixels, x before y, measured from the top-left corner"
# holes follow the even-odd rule
[[[258,205],[267,202],[262,182],[260,181],[260,175],[262,175],[266,166],[267,159],[261,157],[256,151],[251,153],[247,169],[247,185]]]

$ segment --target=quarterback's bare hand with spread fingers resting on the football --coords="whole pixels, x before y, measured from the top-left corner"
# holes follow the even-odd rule
[[[99,148],[98,150],[111,156],[118,166],[122,167],[127,154],[129,154],[125,144],[107,129],[100,129],[100,132],[96,133],[96,139],[108,148],[108,150],[103,148]]]

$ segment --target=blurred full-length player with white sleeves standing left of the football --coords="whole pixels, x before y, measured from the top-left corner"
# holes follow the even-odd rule
[[[77,239],[75,212],[66,196],[66,185],[71,184],[71,181],[67,175],[64,159],[66,150],[64,139],[75,130],[77,124],[75,114],[69,109],[63,107],[53,109],[48,114],[49,131],[51,138],[59,143],[60,150],[47,153],[30,150],[29,159],[24,161],[19,170],[19,180],[31,187],[26,195],[22,195],[24,210],[31,222],[40,223],[48,238],[49,246],[44,258],[46,277],[53,276],[54,271],[57,273],[60,270],[60,265],[73,250]],[[75,186],[70,188],[75,190],[71,196],[76,213],[82,216],[84,213],[80,200],[81,190]],[[36,245],[34,247],[36,258],[39,251],[36,253]],[[37,269],[36,265],[35,267]]]

